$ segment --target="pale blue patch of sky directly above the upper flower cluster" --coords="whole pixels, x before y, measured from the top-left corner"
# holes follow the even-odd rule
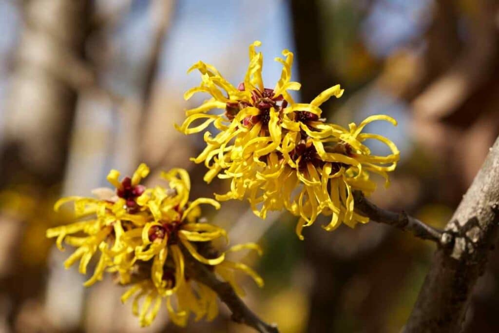
[[[198,84],[199,75],[186,75],[198,60],[215,65],[239,83],[248,64],[248,45],[257,39],[266,55],[263,80],[276,82],[282,67],[273,58],[284,48],[293,49],[286,1],[186,0],[178,5],[161,67],[168,85],[184,91]]]

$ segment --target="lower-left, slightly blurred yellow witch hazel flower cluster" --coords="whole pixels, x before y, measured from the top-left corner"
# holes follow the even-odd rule
[[[218,276],[242,294],[235,280],[235,272],[250,275],[258,286],[262,279],[248,266],[226,259],[226,252],[252,249],[256,244],[237,245],[219,252],[211,241],[226,238],[224,229],[200,221],[201,204],[219,209],[213,199],[189,201],[190,178],[187,171],[173,169],[163,172],[168,188],[140,185],[149,168],[141,164],[132,178],[119,180],[120,173],[111,170],[107,179],[116,188],[98,189],[100,198],[67,197],[54,206],[58,210],[67,202],[74,202],[78,222],[48,229],[47,237],[56,237],[56,245],[73,246],[76,251],[65,261],[69,268],[79,261],[79,272],[87,273],[94,256],[98,260],[93,275],[84,283],[90,286],[102,280],[106,272],[119,277],[122,285],[133,286],[122,296],[125,302],[133,296],[133,313],[141,326],[148,326],[166,300],[170,319],[185,326],[190,314],[196,320],[212,320],[218,314],[216,294],[209,287],[189,277],[187,257],[207,265]],[[203,250],[203,251],[202,251]]]

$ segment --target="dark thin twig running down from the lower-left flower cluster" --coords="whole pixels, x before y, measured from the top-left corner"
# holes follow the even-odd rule
[[[208,267],[186,254],[186,269],[194,280],[210,287],[232,311],[232,320],[245,324],[260,333],[279,333],[276,325],[263,322],[246,304],[236,295],[236,292],[227,282],[220,281]]]

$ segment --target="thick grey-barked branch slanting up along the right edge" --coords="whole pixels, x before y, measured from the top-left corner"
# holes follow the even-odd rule
[[[498,224],[499,138],[446,226],[444,237],[451,242],[436,251],[405,333],[462,330],[473,287],[497,240]]]

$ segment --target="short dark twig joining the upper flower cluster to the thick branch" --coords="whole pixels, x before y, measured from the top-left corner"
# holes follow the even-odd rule
[[[362,192],[354,192],[355,209],[359,210],[362,215],[367,216],[371,221],[388,224],[392,227],[412,232],[416,237],[428,239],[438,244],[448,244],[449,240],[447,233],[437,230],[420,220],[409,216],[406,212],[395,213],[392,211],[379,208],[372,202],[368,201]]]

